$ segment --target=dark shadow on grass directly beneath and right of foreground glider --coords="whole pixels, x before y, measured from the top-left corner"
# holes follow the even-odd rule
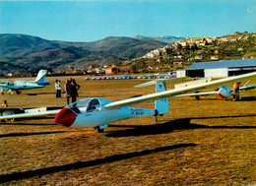
[[[188,130],[188,129],[256,129],[255,126],[208,126],[193,124],[192,119],[218,119],[218,118],[238,118],[238,117],[253,117],[256,114],[236,115],[236,116],[220,116],[220,117],[191,117],[184,119],[176,119],[166,121],[154,125],[109,125],[109,127],[131,128],[118,131],[110,131],[105,135],[106,137],[128,137],[128,136],[145,136],[167,134],[174,130]]]

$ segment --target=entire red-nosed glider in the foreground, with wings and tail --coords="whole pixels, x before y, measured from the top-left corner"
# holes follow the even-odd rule
[[[99,97],[90,97],[73,102],[60,111],[51,110],[44,112],[42,111],[35,113],[0,116],[0,120],[57,114],[55,117],[55,122],[57,124],[66,127],[95,127],[99,132],[102,132],[102,130],[106,128],[107,124],[110,122],[150,115],[157,117],[158,115],[167,113],[169,111],[167,97],[169,96],[187,93],[199,89],[216,87],[224,85],[224,83],[234,83],[252,78],[256,78],[256,72],[236,77],[228,77],[216,81],[207,81],[205,83],[194,84],[190,87],[181,87],[179,89],[169,91],[166,91],[164,81],[157,81],[156,93],[117,101]],[[134,104],[139,104],[141,102],[151,100],[156,100],[155,109],[130,107]]]

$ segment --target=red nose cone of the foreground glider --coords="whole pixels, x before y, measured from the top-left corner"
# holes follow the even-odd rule
[[[63,108],[55,117],[55,123],[70,127],[76,120],[77,114],[69,108]]]

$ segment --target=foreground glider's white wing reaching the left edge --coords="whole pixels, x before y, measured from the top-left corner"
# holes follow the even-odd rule
[[[54,115],[54,114],[59,113],[59,111],[60,111],[60,109],[47,110],[47,111],[41,111],[41,112],[32,112],[32,113],[20,113],[20,114],[13,114],[13,115],[12,114],[11,115],[4,115],[4,116],[0,116],[0,120]]]

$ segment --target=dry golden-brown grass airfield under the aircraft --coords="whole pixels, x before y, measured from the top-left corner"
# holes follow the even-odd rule
[[[54,81],[63,85],[67,78],[46,77],[52,86],[0,95],[1,101],[9,107],[65,106],[65,97],[55,98]],[[147,80],[74,78],[81,86],[78,99],[119,100],[155,92],[154,86],[133,88]],[[122,120],[100,134],[56,125],[54,117],[1,122],[0,184],[255,185],[256,90],[240,95],[240,101],[217,95],[169,98],[170,112],[158,122],[153,117]],[[153,108],[154,102],[137,106]]]

